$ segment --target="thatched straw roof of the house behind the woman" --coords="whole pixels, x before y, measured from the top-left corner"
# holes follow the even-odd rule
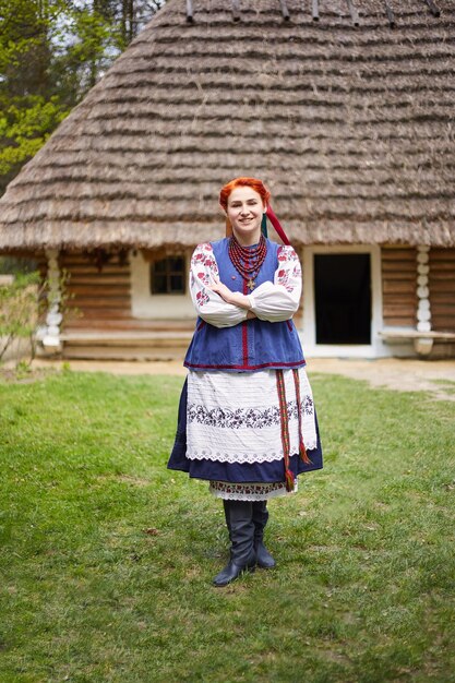
[[[10,184],[0,249],[215,239],[240,175],[297,244],[454,245],[453,0],[282,4],[169,0]]]

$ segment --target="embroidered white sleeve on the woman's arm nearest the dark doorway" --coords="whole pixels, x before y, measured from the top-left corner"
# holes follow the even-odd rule
[[[292,247],[278,249],[278,267],[274,281],[263,283],[248,296],[251,310],[260,320],[278,323],[289,320],[299,308],[302,271]]]

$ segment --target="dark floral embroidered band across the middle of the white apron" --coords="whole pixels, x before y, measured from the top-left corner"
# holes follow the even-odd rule
[[[287,403],[289,419],[298,419],[297,400]],[[313,399],[307,395],[301,400],[301,411],[306,415],[313,414]],[[197,422],[207,427],[221,427],[226,429],[253,428],[263,429],[279,424],[279,406],[261,408],[206,408],[197,404],[189,404],[187,408],[189,422]]]

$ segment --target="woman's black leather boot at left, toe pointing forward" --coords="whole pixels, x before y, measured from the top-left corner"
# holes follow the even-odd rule
[[[252,503],[250,501],[224,501],[224,504],[230,538],[230,560],[213,579],[214,586],[227,586],[242,572],[253,572],[256,564]]]

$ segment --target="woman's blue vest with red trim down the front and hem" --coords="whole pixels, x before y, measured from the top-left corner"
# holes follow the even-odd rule
[[[243,277],[229,259],[229,240],[212,242],[218,264],[219,279],[231,291],[243,292]],[[278,244],[267,240],[267,255],[258,276],[256,287],[274,281],[278,267]],[[252,317],[231,327],[215,327],[201,317],[187,351],[184,366],[190,370],[254,372],[304,366],[303,351],[296,325]]]

